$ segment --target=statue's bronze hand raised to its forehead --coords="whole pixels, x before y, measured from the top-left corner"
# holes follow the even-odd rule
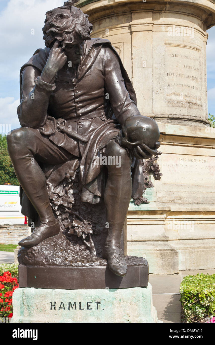
[[[67,61],[67,56],[63,52],[62,48],[59,47],[59,44],[59,41],[56,41],[53,44],[53,47],[49,52],[48,60],[46,62],[46,70],[51,75],[56,75],[57,72],[65,65]]]

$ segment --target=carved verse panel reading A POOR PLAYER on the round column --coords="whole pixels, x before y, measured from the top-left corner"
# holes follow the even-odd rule
[[[199,51],[166,46],[165,99],[201,105],[201,70]]]

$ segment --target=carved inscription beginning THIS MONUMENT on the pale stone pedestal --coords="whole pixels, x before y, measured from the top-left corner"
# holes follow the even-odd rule
[[[162,155],[163,183],[182,185],[215,185],[215,157]]]

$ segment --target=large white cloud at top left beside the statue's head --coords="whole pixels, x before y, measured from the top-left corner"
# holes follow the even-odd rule
[[[42,39],[45,13],[62,6],[63,0],[10,0],[0,15],[0,73],[3,78],[19,78],[19,70],[38,48]],[[31,29],[35,34],[31,34]]]

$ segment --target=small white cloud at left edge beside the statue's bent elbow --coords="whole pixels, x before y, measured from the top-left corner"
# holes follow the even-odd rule
[[[19,104],[20,100],[15,100],[14,97],[0,98],[0,134],[8,132],[10,129],[21,127],[17,116]]]

